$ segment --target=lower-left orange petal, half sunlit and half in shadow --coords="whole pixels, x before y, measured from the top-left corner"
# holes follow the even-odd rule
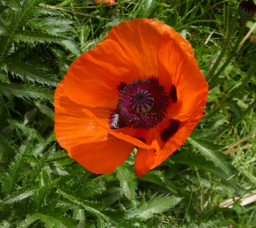
[[[65,94],[65,83],[64,79],[58,85],[53,103],[54,131],[60,146],[89,171],[111,173],[131,154],[134,145],[109,134],[82,112],[84,106],[76,104]]]

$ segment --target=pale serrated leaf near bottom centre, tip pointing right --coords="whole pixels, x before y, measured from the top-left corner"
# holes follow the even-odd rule
[[[181,199],[170,196],[153,197],[148,202],[144,202],[138,206],[138,210],[142,212],[136,218],[142,221],[152,218],[154,214],[162,213],[180,203]]]

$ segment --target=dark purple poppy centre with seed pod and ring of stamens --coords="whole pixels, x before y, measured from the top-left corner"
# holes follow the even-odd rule
[[[168,96],[156,77],[123,82],[117,87],[120,91],[117,109],[109,117],[111,129],[133,127],[150,129],[162,122],[169,107]]]

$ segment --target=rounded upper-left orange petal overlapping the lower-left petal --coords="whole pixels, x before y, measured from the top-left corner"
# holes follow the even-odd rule
[[[74,102],[91,107],[116,109],[120,82],[138,79],[133,60],[114,40],[105,40],[81,54],[70,66],[64,90]]]

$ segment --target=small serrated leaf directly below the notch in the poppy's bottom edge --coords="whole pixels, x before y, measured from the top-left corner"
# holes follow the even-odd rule
[[[134,173],[129,170],[129,165],[127,163],[123,163],[122,165],[117,167],[117,178],[120,181],[120,186],[124,195],[130,199],[134,200],[137,196],[137,178]]]

